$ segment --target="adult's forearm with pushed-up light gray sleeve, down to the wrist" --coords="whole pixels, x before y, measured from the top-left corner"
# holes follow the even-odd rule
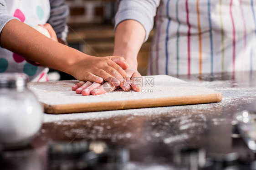
[[[115,17],[113,55],[123,56],[137,70],[137,55],[154,26],[160,0],[120,0]]]

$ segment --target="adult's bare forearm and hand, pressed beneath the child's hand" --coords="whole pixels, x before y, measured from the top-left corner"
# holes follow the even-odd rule
[[[136,92],[140,91],[140,86],[136,85],[136,83],[138,83],[136,82],[136,78],[141,77],[141,75],[137,72],[137,55],[141,45],[143,44],[145,36],[146,32],[143,25],[138,21],[131,19],[125,20],[118,24],[115,32],[115,45],[113,55],[123,56],[125,60],[130,64],[130,68],[126,70],[126,73],[128,78],[132,79],[131,87]],[[78,83],[72,87],[72,90],[76,90],[78,94],[82,93],[82,91],[87,88],[86,86],[83,86],[83,84],[85,84],[85,82]],[[98,86],[93,89],[89,94],[103,94],[106,92],[103,87],[108,87],[109,91],[113,91],[118,88],[118,86],[114,87],[112,84],[106,82],[102,84],[102,86]]]

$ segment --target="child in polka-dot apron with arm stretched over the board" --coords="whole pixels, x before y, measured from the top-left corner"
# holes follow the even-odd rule
[[[0,73],[24,72],[31,81],[47,81],[46,67],[51,67],[81,81],[102,83],[108,78],[129,89],[123,83],[128,64],[122,57],[93,57],[64,45],[67,15],[64,0],[0,0]],[[38,24],[51,39],[32,28]]]

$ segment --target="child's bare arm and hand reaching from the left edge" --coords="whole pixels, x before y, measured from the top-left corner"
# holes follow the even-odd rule
[[[110,82],[116,84],[123,82],[123,77],[127,77],[124,70],[112,61],[123,58],[112,56],[111,60],[108,57],[86,55],[47,38],[17,19],[5,24],[0,34],[0,43],[2,48],[46,67],[69,73],[81,81],[102,83],[103,79],[114,77],[118,81],[113,79]],[[128,68],[128,65],[123,68]]]

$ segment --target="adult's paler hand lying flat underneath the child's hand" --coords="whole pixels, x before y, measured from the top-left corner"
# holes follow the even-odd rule
[[[140,87],[142,86],[141,82],[136,82],[136,78],[141,78],[141,75],[131,68],[128,68],[125,70],[125,72],[128,74],[128,77],[131,77],[132,84],[131,87],[135,92],[140,91]],[[131,80],[127,80],[129,83]],[[106,88],[107,87],[107,88]],[[87,95],[99,95],[104,94],[107,91],[113,92],[114,90],[118,89],[118,86],[113,86],[111,83],[105,82],[104,84],[101,83],[92,83],[92,82],[79,82],[75,86],[72,87],[73,91],[76,91],[77,94],[81,94],[84,96]],[[107,91],[106,91],[107,90]]]

